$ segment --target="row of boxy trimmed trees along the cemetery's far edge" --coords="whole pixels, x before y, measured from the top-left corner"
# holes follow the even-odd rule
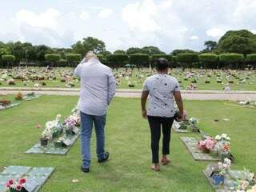
[[[37,66],[77,66],[78,62],[82,60],[81,54],[45,54],[45,62],[38,62]],[[172,66],[182,68],[199,68],[205,69],[245,69],[246,67],[255,68],[256,54],[214,54],[214,53],[202,53],[198,54],[194,51],[189,53],[184,52],[180,54],[126,54],[126,53],[114,53],[114,54],[98,54],[99,60],[110,67],[149,67],[154,66],[154,61],[158,58],[166,58]],[[2,65],[18,66],[16,58],[11,54],[2,55]],[[0,61],[1,61],[0,60]],[[36,63],[34,66],[36,66]],[[24,62],[26,64],[26,62]]]

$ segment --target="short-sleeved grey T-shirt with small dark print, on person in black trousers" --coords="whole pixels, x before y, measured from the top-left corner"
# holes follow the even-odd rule
[[[167,74],[155,74],[146,78],[143,90],[149,90],[147,114],[154,117],[174,117],[174,91],[180,91],[176,78]]]

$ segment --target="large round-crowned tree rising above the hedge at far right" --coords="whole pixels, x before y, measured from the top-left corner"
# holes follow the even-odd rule
[[[248,30],[230,30],[218,41],[218,53],[253,54],[256,52],[256,35]]]

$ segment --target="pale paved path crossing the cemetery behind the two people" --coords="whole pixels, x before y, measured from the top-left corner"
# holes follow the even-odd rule
[[[70,88],[24,88],[24,87],[1,87],[1,94],[17,94],[18,90],[26,94],[31,91],[37,94],[47,95],[79,95],[79,89]],[[141,90],[117,90],[116,97],[140,98]],[[219,90],[182,90],[182,97],[188,100],[233,100],[240,101],[249,99],[256,101],[256,91],[230,91],[223,93]]]

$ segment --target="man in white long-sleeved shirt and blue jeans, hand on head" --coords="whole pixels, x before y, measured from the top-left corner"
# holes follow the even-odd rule
[[[93,123],[97,138],[98,162],[105,162],[110,154],[105,151],[106,110],[115,94],[115,80],[108,66],[98,61],[96,54],[89,51],[74,71],[81,78],[78,109],[81,113],[82,166],[90,171],[90,137]]]

